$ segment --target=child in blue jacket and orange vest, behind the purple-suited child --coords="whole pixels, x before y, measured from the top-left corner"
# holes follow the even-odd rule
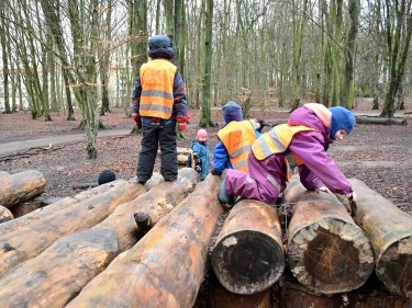
[[[213,150],[212,174],[222,175],[224,169],[247,171],[247,156],[250,146],[261,135],[260,124],[242,121],[242,109],[235,102],[222,107],[225,126],[219,130],[219,142]]]

